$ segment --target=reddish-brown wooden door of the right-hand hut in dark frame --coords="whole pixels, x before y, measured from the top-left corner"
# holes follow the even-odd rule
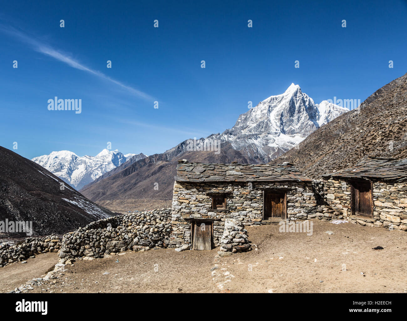
[[[373,218],[372,184],[370,181],[352,183],[352,214]]]

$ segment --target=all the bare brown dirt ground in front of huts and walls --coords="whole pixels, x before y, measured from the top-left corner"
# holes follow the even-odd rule
[[[280,233],[279,225],[247,227],[253,250],[225,258],[215,258],[217,249],[159,249],[81,260],[67,265],[51,280],[55,284],[34,286],[30,293],[407,292],[407,233],[313,223],[312,236]],[[384,249],[373,250],[376,246]],[[41,277],[56,262],[57,255],[48,253],[0,269],[2,292]]]

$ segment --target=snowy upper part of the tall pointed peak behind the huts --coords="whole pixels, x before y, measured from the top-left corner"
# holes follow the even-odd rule
[[[315,104],[291,83],[283,94],[270,96],[241,114],[231,129],[208,138],[231,142],[234,149],[246,149],[258,162],[268,162],[346,111],[326,100]]]

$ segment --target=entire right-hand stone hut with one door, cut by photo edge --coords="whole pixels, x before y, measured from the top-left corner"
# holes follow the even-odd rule
[[[324,199],[354,223],[407,230],[407,159],[370,157],[323,175]]]

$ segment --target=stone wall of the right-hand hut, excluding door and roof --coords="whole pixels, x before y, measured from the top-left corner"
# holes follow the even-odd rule
[[[373,182],[372,219],[352,216],[351,185],[348,181],[330,177],[323,183],[326,207],[334,214],[361,225],[407,230],[407,183]]]

